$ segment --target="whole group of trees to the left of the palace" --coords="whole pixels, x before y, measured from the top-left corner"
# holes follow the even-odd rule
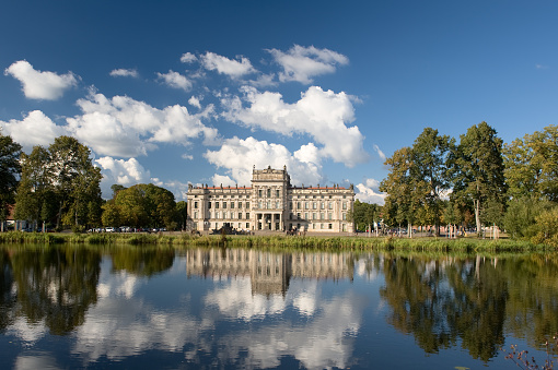
[[[77,139],[59,136],[48,147],[30,154],[0,132],[0,222],[15,204],[14,218],[33,229],[74,231],[104,226],[181,228],[186,225],[186,202],[175,202],[154,184],[113,186],[113,198],[101,196],[101,169],[91,151]]]

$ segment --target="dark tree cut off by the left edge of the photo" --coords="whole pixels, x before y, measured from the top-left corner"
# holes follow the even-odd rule
[[[8,205],[13,204],[21,172],[21,145],[0,132],[0,222],[8,216]]]

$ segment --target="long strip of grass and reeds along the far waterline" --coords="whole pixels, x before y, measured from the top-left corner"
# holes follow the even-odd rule
[[[557,251],[554,246],[533,244],[520,240],[483,240],[474,238],[359,238],[359,237],[287,237],[287,236],[190,236],[155,234],[42,234],[10,231],[0,234],[3,243],[86,243],[86,244],[160,244],[242,248],[303,248],[344,250],[530,252]]]

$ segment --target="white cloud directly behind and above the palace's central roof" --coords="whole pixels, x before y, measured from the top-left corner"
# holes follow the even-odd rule
[[[287,166],[293,184],[316,184],[323,177],[322,165],[318,156],[314,155],[313,144],[302,146],[298,152],[291,154],[287,147],[279,144],[270,144],[266,141],[258,141],[254,138],[242,140],[232,138],[224,141],[218,151],[207,151],[204,157],[217,167],[226,170],[225,177],[213,177],[214,184],[239,183],[248,186],[252,180],[252,170],[256,168],[283,168]],[[313,162],[314,160],[314,162]]]

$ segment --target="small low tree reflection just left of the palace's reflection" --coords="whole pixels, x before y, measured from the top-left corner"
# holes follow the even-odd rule
[[[173,266],[174,249],[123,247],[111,251],[113,270],[152,276]]]

